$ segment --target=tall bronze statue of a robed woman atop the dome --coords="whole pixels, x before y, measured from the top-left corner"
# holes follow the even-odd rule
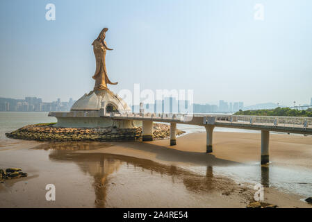
[[[106,50],[113,50],[108,48],[105,40],[106,32],[108,28],[103,28],[101,33],[95,41],[93,41],[93,52],[95,53],[95,61],[97,67],[95,69],[95,75],[92,78],[95,79],[95,89],[94,90],[107,90],[107,84],[116,85],[117,83],[110,82],[107,71],[106,71],[106,63],[105,63],[105,56]]]

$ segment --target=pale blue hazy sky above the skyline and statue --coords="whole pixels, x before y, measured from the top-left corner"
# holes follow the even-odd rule
[[[47,3],[55,21],[45,18]],[[0,97],[67,101],[90,92],[91,44],[108,27],[114,92],[140,83],[194,89],[196,103],[309,103],[311,10],[311,0],[1,1]]]

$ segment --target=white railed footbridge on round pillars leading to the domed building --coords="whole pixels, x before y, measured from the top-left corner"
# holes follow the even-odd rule
[[[142,121],[142,140],[153,139],[153,122],[170,123],[170,145],[176,145],[176,123],[203,126],[206,128],[206,153],[213,152],[213,129],[215,127],[261,130],[261,164],[269,162],[270,131],[312,135],[312,117],[263,117],[241,115],[188,115],[105,112],[104,109],[90,112],[50,112],[49,116],[82,119],[111,119]]]

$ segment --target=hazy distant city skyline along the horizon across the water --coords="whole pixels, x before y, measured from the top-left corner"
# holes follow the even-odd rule
[[[13,112],[50,112],[50,111],[69,111],[72,105],[76,102],[72,98],[69,101],[63,101],[58,98],[56,101],[42,101],[41,98],[26,96],[24,99],[13,99],[0,97],[0,111]],[[165,97],[162,101],[155,100],[154,103],[142,103],[145,112],[155,113],[176,113],[181,112],[180,105],[185,103],[186,106],[191,105],[189,101],[181,101]],[[209,113],[209,112],[237,112],[238,110],[261,110],[274,109],[277,107],[286,107],[286,105],[278,103],[257,103],[253,105],[244,105],[243,101],[224,101],[220,100],[218,105],[213,103],[192,103],[192,112],[194,113]],[[312,98],[311,104],[312,105]],[[309,104],[297,104],[300,106],[309,106]],[[292,106],[290,106],[292,107]],[[131,105],[133,112],[140,112],[140,105]],[[304,108],[306,109],[306,108]]]

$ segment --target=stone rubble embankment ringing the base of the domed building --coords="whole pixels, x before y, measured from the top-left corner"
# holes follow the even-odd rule
[[[176,135],[185,133],[176,130]],[[38,141],[127,141],[142,139],[142,127],[135,128],[63,128],[54,127],[53,124],[28,125],[11,133],[7,137],[15,139],[28,139]],[[154,123],[153,138],[163,139],[170,137],[170,125]]]

